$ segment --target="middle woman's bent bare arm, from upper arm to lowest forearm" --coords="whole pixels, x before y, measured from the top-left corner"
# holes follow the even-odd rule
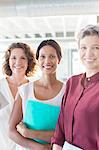
[[[33,142],[17,132],[16,126],[19,124],[22,118],[22,100],[20,96],[18,96],[14,103],[13,111],[9,120],[9,137],[17,144],[31,150],[44,150],[44,145]]]

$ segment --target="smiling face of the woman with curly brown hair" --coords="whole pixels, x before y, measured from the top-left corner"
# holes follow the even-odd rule
[[[12,70],[12,75],[25,75],[28,66],[27,57],[21,48],[14,48],[11,51],[9,58],[9,66]]]

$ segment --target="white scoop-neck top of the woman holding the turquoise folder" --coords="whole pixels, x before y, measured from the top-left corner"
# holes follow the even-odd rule
[[[34,82],[29,82],[26,83],[24,85],[21,85],[18,88],[19,94],[22,98],[22,109],[23,109],[23,116],[25,115],[25,105],[26,105],[26,100],[31,99],[33,101],[40,101],[42,103],[47,103],[47,104],[52,104],[55,106],[60,106],[61,105],[61,101],[62,101],[62,97],[64,95],[65,92],[65,84],[63,83],[63,86],[60,90],[60,92],[52,99],[48,99],[48,100],[38,100],[35,95],[34,95]],[[23,148],[21,146],[17,146],[17,150],[28,150],[27,148]]]

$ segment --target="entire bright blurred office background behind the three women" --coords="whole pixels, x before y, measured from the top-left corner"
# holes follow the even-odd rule
[[[60,80],[84,71],[75,33],[98,22],[99,0],[0,0],[0,78],[3,54],[12,42],[25,42],[36,52],[44,39],[55,39],[62,48]]]

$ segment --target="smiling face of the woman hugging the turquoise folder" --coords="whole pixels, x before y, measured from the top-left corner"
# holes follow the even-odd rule
[[[38,63],[43,73],[55,73],[59,63],[55,48],[49,45],[43,46],[39,51]]]

